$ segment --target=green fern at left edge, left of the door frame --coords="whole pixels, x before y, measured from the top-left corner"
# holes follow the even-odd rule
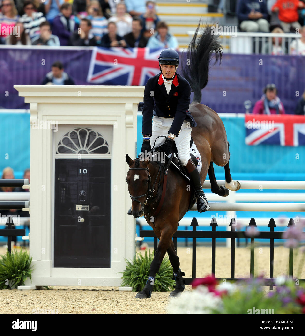
[[[32,280],[32,258],[27,251],[8,251],[0,255],[0,289],[13,289],[23,286],[29,277]]]

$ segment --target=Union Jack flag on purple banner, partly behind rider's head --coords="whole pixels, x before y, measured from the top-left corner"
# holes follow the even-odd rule
[[[160,73],[163,49],[101,48],[92,51],[87,82],[103,85],[145,85]]]

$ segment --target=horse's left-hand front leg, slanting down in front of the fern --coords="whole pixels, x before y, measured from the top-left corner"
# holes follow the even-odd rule
[[[172,242],[171,240],[172,237],[173,237],[173,230],[171,228],[164,228],[161,230],[158,248],[157,251],[155,251],[154,259],[150,265],[148,280],[143,290],[137,293],[136,298],[146,299],[151,297],[151,293],[154,288],[155,276],[160,268],[164,255],[170,246],[170,242]]]

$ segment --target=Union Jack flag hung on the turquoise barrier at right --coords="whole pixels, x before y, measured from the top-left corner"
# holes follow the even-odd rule
[[[247,145],[305,145],[305,116],[246,114],[245,128]]]

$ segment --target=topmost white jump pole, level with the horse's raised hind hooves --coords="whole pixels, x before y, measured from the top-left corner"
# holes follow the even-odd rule
[[[225,181],[217,181],[218,185],[225,185]],[[241,180],[240,189],[305,189],[305,181],[248,181]],[[211,188],[210,181],[205,181],[202,185],[203,189]]]

